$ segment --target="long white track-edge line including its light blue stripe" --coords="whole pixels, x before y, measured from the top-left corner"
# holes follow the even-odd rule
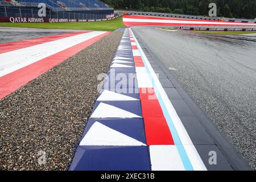
[[[132,30],[131,32],[134,36],[134,33]],[[152,82],[152,85],[154,86],[155,92],[159,93],[159,94],[156,93],[156,96],[158,97],[160,106],[162,107],[164,117],[167,120],[168,127],[171,131],[172,137],[174,138],[175,146],[179,151],[179,155],[183,162],[185,170],[188,170],[188,171],[207,170],[195,146],[193,146],[193,143],[187,131],[185,130],[183,123],[180,121],[180,118],[177,115],[176,110],[174,109],[174,106],[172,106],[171,101],[169,100],[166,92],[164,91],[163,86],[160,84],[160,81],[156,76],[156,73],[152,69],[151,64],[149,63],[146,55],[144,55],[144,52],[142,51],[142,48],[139,45],[138,40],[135,38],[135,36],[134,36],[134,40],[137,43],[137,47],[138,47],[139,53],[142,56],[142,60],[146,65],[148,76],[151,77],[150,80],[154,81]]]

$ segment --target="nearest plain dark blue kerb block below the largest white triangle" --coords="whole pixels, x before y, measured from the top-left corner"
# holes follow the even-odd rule
[[[79,146],[70,170],[150,171],[147,146]]]

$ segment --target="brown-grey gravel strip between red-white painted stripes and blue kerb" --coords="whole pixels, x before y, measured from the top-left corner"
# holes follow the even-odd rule
[[[122,32],[113,32],[0,101],[0,170],[67,170]],[[38,163],[46,152],[46,165]]]

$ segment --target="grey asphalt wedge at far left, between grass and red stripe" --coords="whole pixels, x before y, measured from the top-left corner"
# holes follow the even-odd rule
[[[56,30],[43,28],[17,28],[0,27],[0,44],[15,42],[18,40],[40,38],[42,36],[56,35],[65,32],[74,32],[78,30]]]

